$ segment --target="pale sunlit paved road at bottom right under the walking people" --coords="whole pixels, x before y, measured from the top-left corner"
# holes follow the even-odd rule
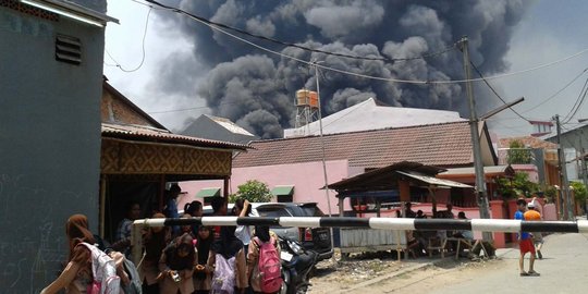
[[[588,235],[552,234],[546,237],[543,259],[536,260],[535,269],[541,277],[518,275],[518,250],[502,252],[502,261],[488,270],[455,272],[463,280],[427,291],[428,293],[584,293],[588,289]],[[528,260],[525,260],[526,268]],[[441,277],[438,279],[442,279]]]

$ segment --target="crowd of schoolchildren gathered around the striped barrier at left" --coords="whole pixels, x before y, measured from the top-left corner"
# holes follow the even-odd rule
[[[179,194],[179,191],[173,193]],[[169,198],[161,212],[145,217],[179,217],[175,198]],[[250,212],[249,203],[243,199],[237,200],[229,213],[223,197],[213,197],[211,206],[215,216],[243,217]],[[130,203],[126,211],[118,226],[117,241],[110,246],[99,246],[100,249],[109,252],[113,259],[128,256],[133,220],[143,217],[140,206],[136,203]],[[201,216],[201,203],[185,205],[183,218]],[[79,245],[102,242],[90,233],[87,218],[83,215],[72,216],[65,224],[65,232],[69,240],[68,266],[58,279],[42,290],[42,294],[59,293],[62,289],[66,289],[68,293],[90,293],[87,292],[93,283],[90,250]],[[274,292],[264,291],[260,286],[262,273],[258,265],[259,248],[267,248],[266,243],[270,244],[278,255],[280,253],[277,236],[270,232],[269,226],[154,226],[144,229],[142,233],[143,257],[136,268],[140,277],[142,292],[145,294]],[[117,273],[121,277],[121,289],[124,289],[123,285],[130,283],[128,275],[124,270],[118,270]]]

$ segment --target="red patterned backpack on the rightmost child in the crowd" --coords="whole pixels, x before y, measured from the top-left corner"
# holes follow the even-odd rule
[[[255,243],[259,248],[259,259],[257,269],[259,271],[259,286],[264,293],[274,293],[282,286],[282,260],[275,248],[275,240],[270,238],[269,242],[261,242],[255,237]]]

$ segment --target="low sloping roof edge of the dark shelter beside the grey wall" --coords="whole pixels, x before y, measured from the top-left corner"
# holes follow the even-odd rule
[[[134,138],[158,143],[181,143],[198,147],[218,147],[224,149],[245,150],[249,148],[247,145],[177,135],[167,130],[155,128],[144,125],[102,123],[102,136],[117,138]]]

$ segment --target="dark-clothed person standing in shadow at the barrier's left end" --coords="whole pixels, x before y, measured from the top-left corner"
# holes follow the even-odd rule
[[[163,213],[155,213],[154,219],[164,219]],[[166,245],[171,238],[171,233],[168,226],[151,226],[148,228],[143,235],[143,245],[145,246],[145,257],[140,262],[138,271],[143,278],[143,293],[158,294],[159,283],[157,275],[159,274],[159,259]]]

